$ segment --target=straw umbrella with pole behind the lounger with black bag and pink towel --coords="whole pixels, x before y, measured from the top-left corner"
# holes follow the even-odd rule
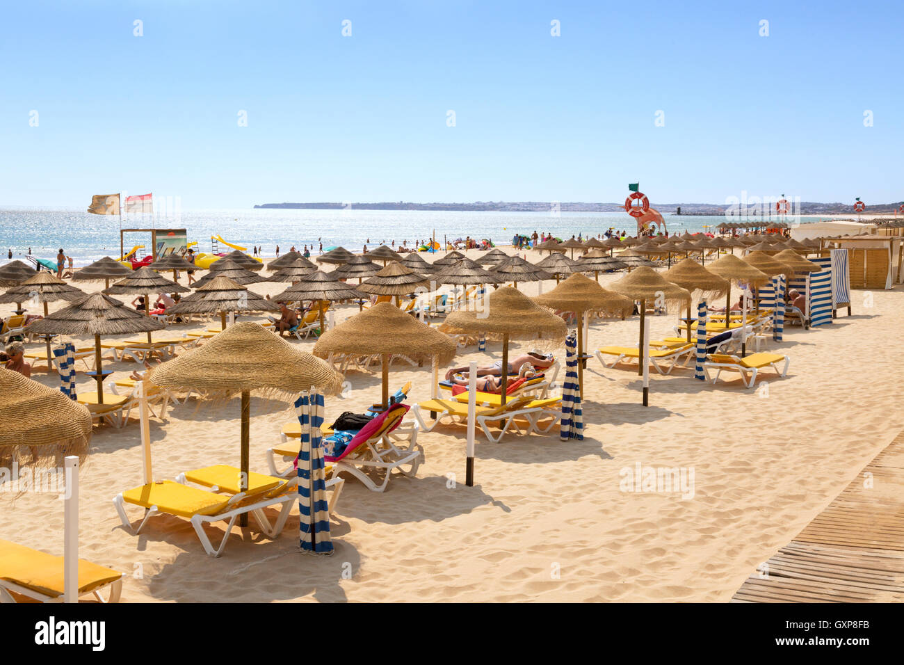
[[[421,361],[436,358],[438,365],[447,365],[455,357],[456,342],[434,328],[425,326],[417,318],[378,302],[372,308],[327,330],[317,339],[314,355],[322,358],[331,353],[347,353],[381,357],[381,404],[389,406],[389,361],[393,355],[408,356]]]

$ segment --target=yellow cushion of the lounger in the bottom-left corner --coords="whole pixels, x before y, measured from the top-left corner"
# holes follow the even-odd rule
[[[122,573],[111,568],[79,559],[80,594],[89,594],[120,577]],[[0,579],[59,598],[63,594],[63,558],[0,540]]]

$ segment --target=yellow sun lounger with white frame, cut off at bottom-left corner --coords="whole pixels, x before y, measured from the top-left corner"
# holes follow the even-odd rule
[[[79,559],[79,596],[93,594],[100,603],[116,603],[125,575],[102,565]],[[42,603],[61,603],[63,557],[0,540],[0,603],[15,603],[25,596]],[[105,601],[100,592],[109,589]]]

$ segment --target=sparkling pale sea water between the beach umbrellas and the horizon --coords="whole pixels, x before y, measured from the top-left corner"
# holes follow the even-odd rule
[[[715,232],[726,221],[724,216],[664,215],[669,234]],[[817,217],[799,218],[800,222]],[[454,241],[467,236],[488,239],[495,245],[511,245],[516,234],[552,234],[570,238],[597,236],[607,229],[636,233],[634,218],[613,213],[501,213],[438,212],[417,210],[288,210],[234,209],[180,211],[166,216],[129,215],[121,222],[118,215],[89,214],[84,210],[0,210],[0,263],[12,250],[13,258],[21,258],[31,250],[39,259],[56,261],[62,248],[76,267],[88,265],[101,257],[119,258],[119,229],[157,228],[185,229],[189,241],[197,242],[198,252],[212,252],[212,237],[240,247],[259,246],[265,257],[287,252],[293,245],[300,251],[305,245],[316,254],[342,246],[350,252],[361,252],[364,245],[373,249],[381,244],[408,247],[435,237],[438,242]],[[150,233],[126,233],[126,251],[146,244],[150,252]],[[217,242],[220,252],[231,251]]]

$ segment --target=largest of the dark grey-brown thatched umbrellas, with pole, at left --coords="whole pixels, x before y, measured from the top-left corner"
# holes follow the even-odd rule
[[[104,403],[104,376],[100,367],[100,336],[123,335],[162,330],[164,324],[155,318],[127,308],[118,299],[102,293],[82,295],[68,307],[32,321],[25,332],[39,335],[94,336],[94,380],[98,382],[98,404]]]

